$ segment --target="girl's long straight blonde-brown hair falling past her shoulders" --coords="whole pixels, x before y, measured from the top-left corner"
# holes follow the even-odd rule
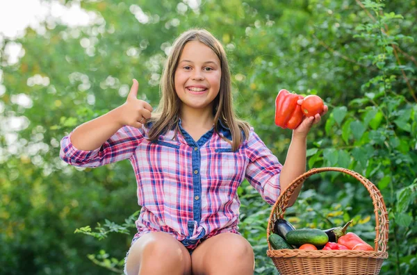
[[[229,64],[222,44],[204,29],[191,29],[182,33],[172,46],[163,69],[160,85],[161,101],[155,114],[147,121],[147,126],[152,124],[149,129],[149,140],[158,140],[159,135],[163,135],[173,129],[176,135],[179,133],[179,108],[181,101],[175,92],[174,74],[183,48],[190,41],[202,42],[212,49],[220,60],[220,67],[222,69],[220,92],[213,101],[214,130],[215,133],[220,134],[218,131],[220,128],[219,122],[222,122],[224,126],[228,127],[232,140],[223,138],[231,143],[232,149],[236,151],[244,138],[247,139],[249,136],[250,125],[238,119],[234,113]],[[242,131],[245,137],[243,137]]]

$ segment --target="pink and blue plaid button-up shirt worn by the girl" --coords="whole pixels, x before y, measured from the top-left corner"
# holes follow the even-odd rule
[[[149,142],[145,126],[124,126],[93,151],[76,149],[70,134],[61,140],[60,158],[79,167],[131,161],[142,206],[133,240],[163,231],[193,248],[218,233],[238,233],[237,189],[245,178],[267,203],[275,203],[282,165],[253,128],[236,152],[220,136],[231,139],[224,126],[220,126],[220,135],[212,128],[197,142],[181,122],[180,129],[177,138],[174,131],[168,131],[157,142]]]

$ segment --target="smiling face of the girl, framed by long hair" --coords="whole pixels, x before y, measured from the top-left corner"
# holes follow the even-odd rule
[[[199,41],[188,42],[175,70],[175,91],[183,110],[213,109],[213,100],[220,90],[222,69],[212,49]]]

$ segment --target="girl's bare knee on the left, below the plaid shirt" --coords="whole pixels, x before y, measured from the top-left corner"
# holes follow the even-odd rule
[[[131,247],[126,258],[126,270],[129,275],[190,275],[190,253],[167,233],[147,233]]]

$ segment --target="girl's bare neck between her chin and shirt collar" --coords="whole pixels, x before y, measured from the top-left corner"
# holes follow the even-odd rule
[[[181,108],[181,125],[184,128],[206,128],[211,129],[214,123],[213,111],[210,108],[195,110]]]

